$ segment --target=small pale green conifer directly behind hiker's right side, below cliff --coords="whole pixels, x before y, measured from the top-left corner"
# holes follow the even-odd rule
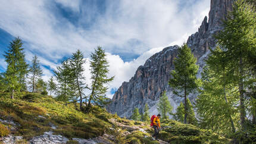
[[[170,101],[168,101],[166,91],[164,91],[162,96],[160,97],[160,100],[157,104],[157,110],[161,113],[164,119],[168,118],[167,113],[170,113],[173,110]]]

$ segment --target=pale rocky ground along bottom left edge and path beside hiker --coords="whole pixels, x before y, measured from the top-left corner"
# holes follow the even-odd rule
[[[13,125],[13,127],[17,126],[17,124],[14,123],[14,121],[4,121],[1,120],[1,123],[8,123]],[[133,132],[139,131],[143,134],[145,134],[145,138],[148,137],[151,139],[151,134],[149,134],[147,131],[150,129],[150,127],[145,126],[144,123],[141,123],[139,126],[129,126],[127,123],[120,123],[117,119],[111,118],[111,123],[115,124],[118,128],[110,127],[108,131],[115,133],[116,131],[121,132],[121,136],[126,137]],[[54,124],[51,124],[52,129],[56,129],[57,126]],[[147,127],[147,128],[146,128]],[[5,137],[1,137],[0,143],[6,143],[6,144],[13,144],[13,143],[31,143],[31,144],[55,144],[55,143],[79,143],[79,144],[96,144],[96,143],[114,143],[115,139],[117,137],[113,134],[104,133],[102,136],[94,137],[91,139],[80,139],[80,138],[72,138],[69,140],[67,137],[61,136],[60,134],[54,134],[54,132],[44,132],[40,136],[32,137],[29,141],[26,139],[23,139],[23,136],[13,136],[8,135]],[[152,140],[154,142],[154,140]],[[164,142],[163,140],[155,141],[155,143],[168,143]]]

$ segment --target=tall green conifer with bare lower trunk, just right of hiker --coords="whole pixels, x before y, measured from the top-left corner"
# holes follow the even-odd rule
[[[196,58],[193,57],[191,49],[184,44],[178,48],[177,58],[174,60],[174,70],[171,71],[171,79],[169,85],[174,88],[173,93],[177,96],[183,97],[184,103],[184,123],[187,123],[188,104],[187,96],[199,86],[199,80],[196,78],[198,65],[196,65]],[[180,93],[183,93],[181,95]]]

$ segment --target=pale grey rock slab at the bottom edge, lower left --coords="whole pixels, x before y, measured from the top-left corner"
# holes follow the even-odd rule
[[[30,143],[33,144],[43,144],[43,143],[67,143],[68,139],[64,136],[60,135],[53,135],[52,132],[45,132],[41,136],[33,137],[32,140],[30,140]]]

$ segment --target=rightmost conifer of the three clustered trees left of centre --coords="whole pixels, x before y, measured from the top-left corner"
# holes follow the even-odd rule
[[[114,77],[108,78],[107,76],[109,65],[104,49],[98,46],[95,52],[90,55],[90,59],[90,74],[92,74],[92,86],[90,89],[92,91],[86,107],[87,112],[90,111],[92,101],[101,107],[107,104],[108,98],[105,93],[107,92],[108,86],[106,84],[114,79]]]

